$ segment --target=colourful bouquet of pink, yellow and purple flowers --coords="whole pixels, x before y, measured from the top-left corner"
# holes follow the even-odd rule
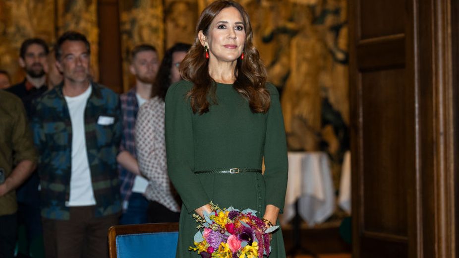
[[[203,258],[263,258],[271,252],[269,234],[279,226],[268,227],[255,216],[257,211],[240,211],[233,207],[221,209],[210,203],[212,212],[204,212],[204,219],[194,214],[198,232],[194,247]]]

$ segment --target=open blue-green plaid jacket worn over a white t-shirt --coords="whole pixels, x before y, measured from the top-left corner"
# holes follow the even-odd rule
[[[70,197],[72,125],[62,86],[58,85],[34,102],[31,126],[34,143],[40,155],[38,173],[42,216],[68,220],[69,207],[65,203]],[[113,118],[113,123],[98,123],[101,116]],[[96,217],[115,214],[121,210],[116,167],[122,130],[120,120],[118,95],[93,82],[84,122],[86,149],[96,199]]]

